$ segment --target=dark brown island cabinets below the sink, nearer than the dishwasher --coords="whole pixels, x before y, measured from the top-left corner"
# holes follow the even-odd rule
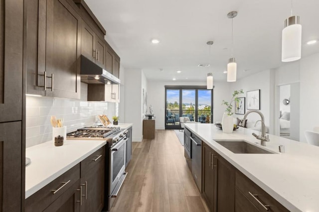
[[[202,196],[210,212],[288,212],[204,142]]]

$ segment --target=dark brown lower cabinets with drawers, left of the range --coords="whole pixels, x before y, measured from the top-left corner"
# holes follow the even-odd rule
[[[101,212],[105,147],[28,197],[25,212]]]

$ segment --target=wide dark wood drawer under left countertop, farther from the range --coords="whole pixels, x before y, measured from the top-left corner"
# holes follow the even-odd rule
[[[63,175],[34,193],[25,200],[25,212],[38,212],[46,209],[74,183],[80,179],[80,164],[75,165]],[[66,183],[67,182],[67,183]],[[55,191],[55,194],[53,194]]]

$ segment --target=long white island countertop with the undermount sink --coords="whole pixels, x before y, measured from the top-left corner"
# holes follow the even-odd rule
[[[292,212],[319,212],[319,147],[269,135],[260,146],[254,130],[239,127],[223,133],[214,124],[185,123],[185,126],[239,171]],[[257,133],[259,134],[259,133]],[[243,139],[277,154],[235,154],[214,140]],[[285,146],[279,153],[278,146]]]

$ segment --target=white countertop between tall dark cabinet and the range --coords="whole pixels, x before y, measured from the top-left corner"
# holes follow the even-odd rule
[[[53,141],[26,148],[31,163],[25,167],[25,199],[106,144],[103,140],[67,140],[63,146]]]

